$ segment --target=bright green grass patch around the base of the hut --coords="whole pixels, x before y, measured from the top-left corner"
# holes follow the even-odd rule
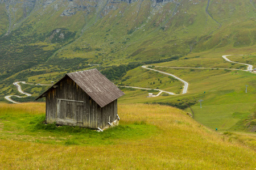
[[[113,145],[117,139],[138,140],[148,138],[159,130],[146,122],[134,122],[133,124],[122,124],[114,128],[106,129],[103,132],[78,126],[59,126],[56,124],[44,124],[44,114],[34,115],[22,113],[16,110],[15,113],[0,111],[0,122],[4,124],[1,139],[13,139],[26,141],[28,138],[36,143],[50,143],[61,145]],[[17,135],[19,136],[17,138]]]

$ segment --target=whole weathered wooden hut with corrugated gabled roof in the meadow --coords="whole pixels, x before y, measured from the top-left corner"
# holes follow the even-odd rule
[[[117,119],[123,92],[97,69],[68,73],[36,100],[46,97],[46,123],[104,128]]]

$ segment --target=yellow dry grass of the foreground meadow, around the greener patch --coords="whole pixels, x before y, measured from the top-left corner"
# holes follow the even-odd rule
[[[42,114],[44,104],[0,104]],[[158,128],[146,139],[116,145],[63,146],[0,139],[0,169],[254,169],[256,153],[198,124],[179,109],[120,104],[120,124]],[[0,115],[1,116],[1,115]],[[38,134],[40,135],[40,134]],[[108,140],[108,139],[105,139]]]

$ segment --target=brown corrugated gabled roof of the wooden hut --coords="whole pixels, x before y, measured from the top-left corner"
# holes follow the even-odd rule
[[[79,87],[81,87],[86,94],[92,97],[92,99],[96,101],[100,107],[105,107],[105,105],[124,95],[124,93],[119,90],[118,87],[110,82],[110,80],[102,75],[97,69],[68,73],[57,83],[61,82],[61,80],[63,80],[66,76],[69,76],[69,78],[71,78]],[[40,95],[36,100],[44,97],[47,92],[53,88],[53,86]]]

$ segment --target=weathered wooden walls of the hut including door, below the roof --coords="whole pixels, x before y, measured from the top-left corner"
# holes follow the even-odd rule
[[[46,96],[47,123],[103,128],[117,117],[117,100],[101,108],[71,78],[56,85]]]

